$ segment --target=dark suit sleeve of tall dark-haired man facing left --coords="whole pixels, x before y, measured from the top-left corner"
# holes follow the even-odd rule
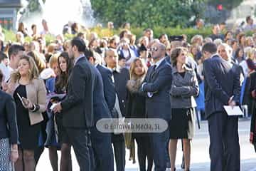
[[[85,98],[85,75],[86,73],[83,72],[81,66],[76,65],[73,68],[73,71],[71,73],[70,78],[70,84],[71,86],[70,92],[68,92],[68,95],[65,97],[65,99],[60,103],[63,111],[68,110],[72,108],[73,106],[79,104],[84,100]]]

